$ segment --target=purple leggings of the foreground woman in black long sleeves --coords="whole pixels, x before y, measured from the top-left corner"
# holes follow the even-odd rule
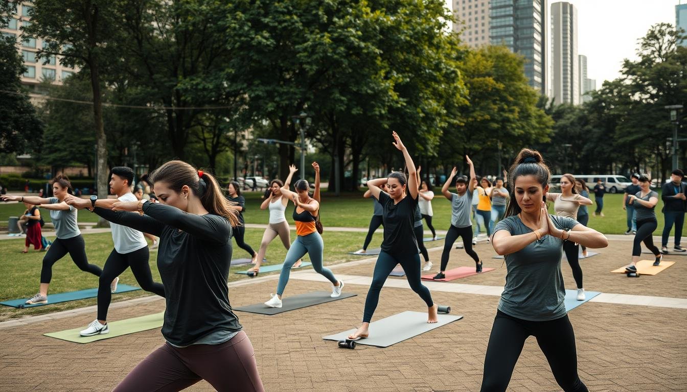
[[[205,380],[217,391],[264,391],[250,339],[241,331],[220,345],[159,347],[114,392],[181,391]]]

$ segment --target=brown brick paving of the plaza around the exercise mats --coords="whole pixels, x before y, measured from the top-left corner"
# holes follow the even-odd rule
[[[673,256],[675,266],[655,276],[629,279],[609,271],[628,260],[631,242],[613,241],[602,255],[583,260],[588,290],[632,295],[687,298],[687,257]],[[491,259],[491,246],[477,251],[497,270],[458,279],[462,284],[504,284],[502,260]],[[431,251],[438,264],[440,251]],[[470,265],[462,250],[452,251],[449,266]],[[335,268],[335,273],[372,275],[372,262]],[[434,268],[436,270],[436,268]],[[574,288],[570,268],[563,266],[567,288]],[[403,278],[391,278],[403,279]],[[454,281],[456,282],[456,281]],[[232,286],[232,305],[269,299],[276,280]],[[328,288],[328,284],[291,279],[284,295]],[[267,391],[478,391],[484,352],[498,297],[433,292],[436,302],[451,305],[460,321],[386,349],[360,346],[339,349],[322,336],[359,324],[366,286],[349,284],[357,297],[324,305],[262,316],[238,312],[256,349]],[[423,310],[411,290],[385,288],[374,319],[402,310]],[[164,301],[113,309],[111,320],[164,309]],[[151,330],[78,345],[41,336],[45,332],[87,325],[94,314],[41,321],[0,329],[0,391],[109,391],[150,351],[163,342]],[[687,310],[640,305],[585,303],[570,312],[575,328],[578,368],[590,391],[685,391],[687,385]],[[200,382],[190,391],[212,391]],[[528,339],[509,391],[559,391],[536,341]]]

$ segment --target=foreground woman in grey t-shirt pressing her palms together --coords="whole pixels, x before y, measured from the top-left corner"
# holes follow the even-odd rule
[[[491,241],[496,253],[505,256],[508,272],[486,349],[481,391],[506,391],[526,339],[534,336],[563,391],[586,392],[565,310],[563,243],[603,248],[608,240],[572,218],[548,214],[544,201],[550,172],[539,152],[521,150],[508,178],[513,192],[506,218],[496,224]]]

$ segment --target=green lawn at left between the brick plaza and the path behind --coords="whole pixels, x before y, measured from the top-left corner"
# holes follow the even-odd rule
[[[258,251],[260,247],[262,233],[262,229],[246,230],[245,241],[247,244],[253,246],[256,251]],[[359,249],[363,240],[365,239],[365,233],[324,231],[322,236],[325,244],[325,265],[358,259],[359,256],[348,255],[346,253]],[[107,256],[113,249],[111,234],[87,234],[84,235],[84,239],[86,241],[86,253],[89,257],[89,262],[92,264],[97,264],[102,268]],[[295,239],[295,231],[291,231],[291,239]],[[381,239],[381,235],[375,235],[372,245],[379,246]],[[0,241],[0,260],[2,260],[1,264],[3,271],[3,273],[0,274],[0,301],[31,297],[38,291],[38,284],[41,277],[41,260],[43,260],[43,255],[45,255],[45,253],[30,251],[29,253],[22,254],[21,250],[23,249],[23,244],[23,238]],[[248,257],[248,253],[243,251],[243,249],[238,248],[238,246],[236,246],[236,242],[233,240],[232,244],[234,246],[234,258]],[[267,263],[264,265],[280,264],[284,261],[285,256],[286,249],[284,249],[281,241],[277,238],[271,242],[270,246],[267,248]],[[150,270],[153,271],[153,279],[155,281],[160,281],[159,273],[157,272],[157,265],[155,263],[155,257],[157,257],[157,251],[151,251]],[[304,257],[304,260],[308,260],[307,255]],[[250,268],[250,264],[232,266],[231,273],[229,274],[229,281],[235,281],[237,279],[251,279],[246,275],[234,273],[234,271],[246,270],[247,268]],[[71,262],[69,255],[56,262],[52,270],[52,282],[50,284],[49,293],[98,287],[98,278],[94,275],[84,273],[79,270],[76,265]],[[275,272],[275,274],[278,273],[279,272]],[[262,276],[262,274],[260,275]],[[120,282],[123,284],[129,284],[131,286],[138,286],[133,274],[131,273],[131,269],[127,269],[122,275],[120,275]],[[122,301],[124,299],[142,297],[144,295],[150,295],[150,293],[144,292],[143,290],[126,292],[113,295],[113,301]],[[267,299],[269,299],[269,292],[265,292],[265,300]],[[44,314],[49,312],[57,312],[59,310],[82,308],[84,306],[95,305],[96,303],[96,299],[91,298],[27,309],[15,309],[10,308],[9,306],[0,305],[0,321],[26,316],[29,314]]]

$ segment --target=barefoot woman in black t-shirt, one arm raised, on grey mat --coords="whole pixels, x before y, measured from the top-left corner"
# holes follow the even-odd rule
[[[374,266],[374,275],[370,290],[368,290],[368,297],[365,298],[363,323],[356,332],[348,336],[352,340],[370,336],[370,321],[372,321],[372,314],[374,314],[377,303],[379,303],[379,292],[397,264],[401,264],[403,267],[410,288],[418,293],[427,304],[427,323],[438,321],[437,305],[432,301],[429,289],[420,281],[418,241],[423,239],[416,238],[413,230],[415,209],[419,197],[415,164],[408,150],[403,146],[401,138],[396,132],[393,132],[392,135],[395,140],[394,146],[403,152],[408,176],[406,177],[402,172],[392,172],[387,178],[375,178],[368,181],[368,188],[372,192],[372,197],[378,199],[383,208],[384,241]],[[380,188],[383,184],[386,184],[386,192]]]

